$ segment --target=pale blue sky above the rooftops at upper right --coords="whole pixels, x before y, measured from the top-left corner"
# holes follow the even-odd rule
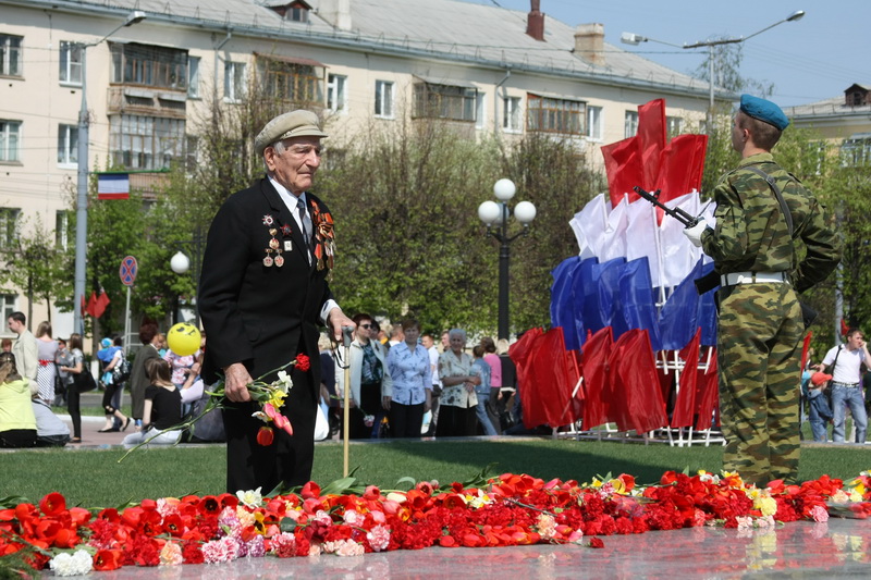
[[[465,0],[529,11],[529,0]],[[867,38],[871,0],[541,0],[541,11],[576,26],[601,23],[605,41],[682,73],[704,62],[707,48],[619,41],[624,32],[682,46],[749,36],[797,10],[785,22],[743,42],[741,76],[774,84],[782,107],[841,97],[854,83],[871,85]],[[547,27],[547,21],[545,21]]]

